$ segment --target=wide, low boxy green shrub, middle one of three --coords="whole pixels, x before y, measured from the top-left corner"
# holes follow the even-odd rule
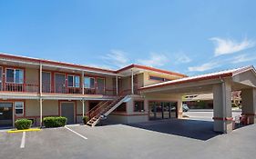
[[[60,127],[60,126],[65,126],[67,124],[67,117],[63,116],[57,116],[57,117],[45,117],[44,120],[44,125],[46,127]]]

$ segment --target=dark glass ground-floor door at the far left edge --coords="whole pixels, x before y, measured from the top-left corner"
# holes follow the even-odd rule
[[[13,104],[0,103],[0,126],[13,126]]]

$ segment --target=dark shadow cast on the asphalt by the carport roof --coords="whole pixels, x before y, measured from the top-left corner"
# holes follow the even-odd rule
[[[127,125],[159,133],[174,134],[203,141],[209,140],[210,138],[220,134],[213,131],[213,122],[210,121],[170,119]]]

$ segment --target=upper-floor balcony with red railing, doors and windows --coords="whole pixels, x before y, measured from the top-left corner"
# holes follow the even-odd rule
[[[114,79],[109,76],[84,75],[83,77],[79,74],[52,71],[42,71],[40,77],[38,69],[0,66],[1,92],[117,95],[112,82]]]

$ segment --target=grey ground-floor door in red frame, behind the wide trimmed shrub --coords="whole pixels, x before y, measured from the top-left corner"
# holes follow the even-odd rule
[[[67,117],[67,124],[74,124],[74,103],[73,102],[64,102],[60,104],[61,107],[61,116]]]

